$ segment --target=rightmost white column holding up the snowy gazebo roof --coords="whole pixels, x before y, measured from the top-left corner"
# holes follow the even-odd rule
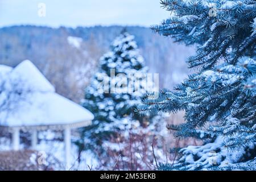
[[[65,127],[64,131],[65,142],[65,168],[68,170],[71,167],[71,128]]]

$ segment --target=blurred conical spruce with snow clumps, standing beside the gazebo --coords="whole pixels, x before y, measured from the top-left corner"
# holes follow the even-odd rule
[[[82,129],[82,141],[78,144],[80,150],[89,149],[98,155],[104,154],[106,141],[127,131],[131,122],[142,123],[143,118],[134,114],[134,106],[141,102],[147,86],[143,81],[138,84],[146,75],[147,68],[139,55],[134,36],[122,32],[110,49],[101,57],[98,73],[86,88],[82,101],[82,106],[90,110],[95,118],[92,125]],[[125,75],[118,75],[120,73]],[[86,146],[83,146],[84,143]]]

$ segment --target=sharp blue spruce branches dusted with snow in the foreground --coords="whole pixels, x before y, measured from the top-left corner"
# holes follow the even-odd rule
[[[174,16],[153,27],[176,42],[196,44],[189,75],[174,92],[143,100],[142,114],[185,110],[176,137],[197,137],[203,146],[179,150],[164,170],[256,169],[256,1],[163,0]]]

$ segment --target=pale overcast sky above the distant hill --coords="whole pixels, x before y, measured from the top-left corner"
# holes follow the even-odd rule
[[[150,26],[160,23],[170,14],[160,7],[159,2],[160,0],[0,0],[0,27],[14,24],[52,27],[113,24]],[[39,3],[46,5],[45,17],[38,15]]]

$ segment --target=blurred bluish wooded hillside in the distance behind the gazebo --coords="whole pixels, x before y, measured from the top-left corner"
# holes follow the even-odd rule
[[[123,27],[0,28],[0,64],[15,66],[31,60],[55,85],[58,93],[79,102],[97,69],[98,59]],[[172,88],[188,73],[185,60],[193,48],[172,43],[144,27],[126,27],[141,49],[152,73],[160,73],[160,86]]]

